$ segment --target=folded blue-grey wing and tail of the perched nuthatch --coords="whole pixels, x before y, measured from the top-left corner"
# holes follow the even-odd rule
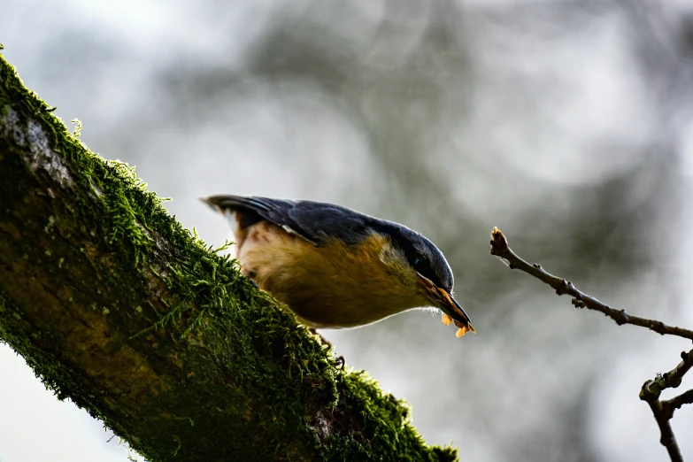
[[[369,233],[373,218],[335,204],[292,201],[257,196],[210,196],[204,202],[220,210],[243,212],[243,227],[262,219],[273,222],[288,233],[320,245],[337,238],[359,243]]]

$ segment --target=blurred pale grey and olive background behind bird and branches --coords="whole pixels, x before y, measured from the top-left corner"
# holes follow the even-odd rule
[[[638,392],[690,344],[574,309],[490,257],[489,232],[693,327],[693,2],[4,0],[0,42],[208,243],[230,234],[197,197],[223,192],[335,202],[434,241],[478,335],[417,311],[323,332],[412,403],[428,443],[667,459]],[[693,459],[693,406],[673,422]],[[126,461],[111,437],[0,345],[2,462]]]

